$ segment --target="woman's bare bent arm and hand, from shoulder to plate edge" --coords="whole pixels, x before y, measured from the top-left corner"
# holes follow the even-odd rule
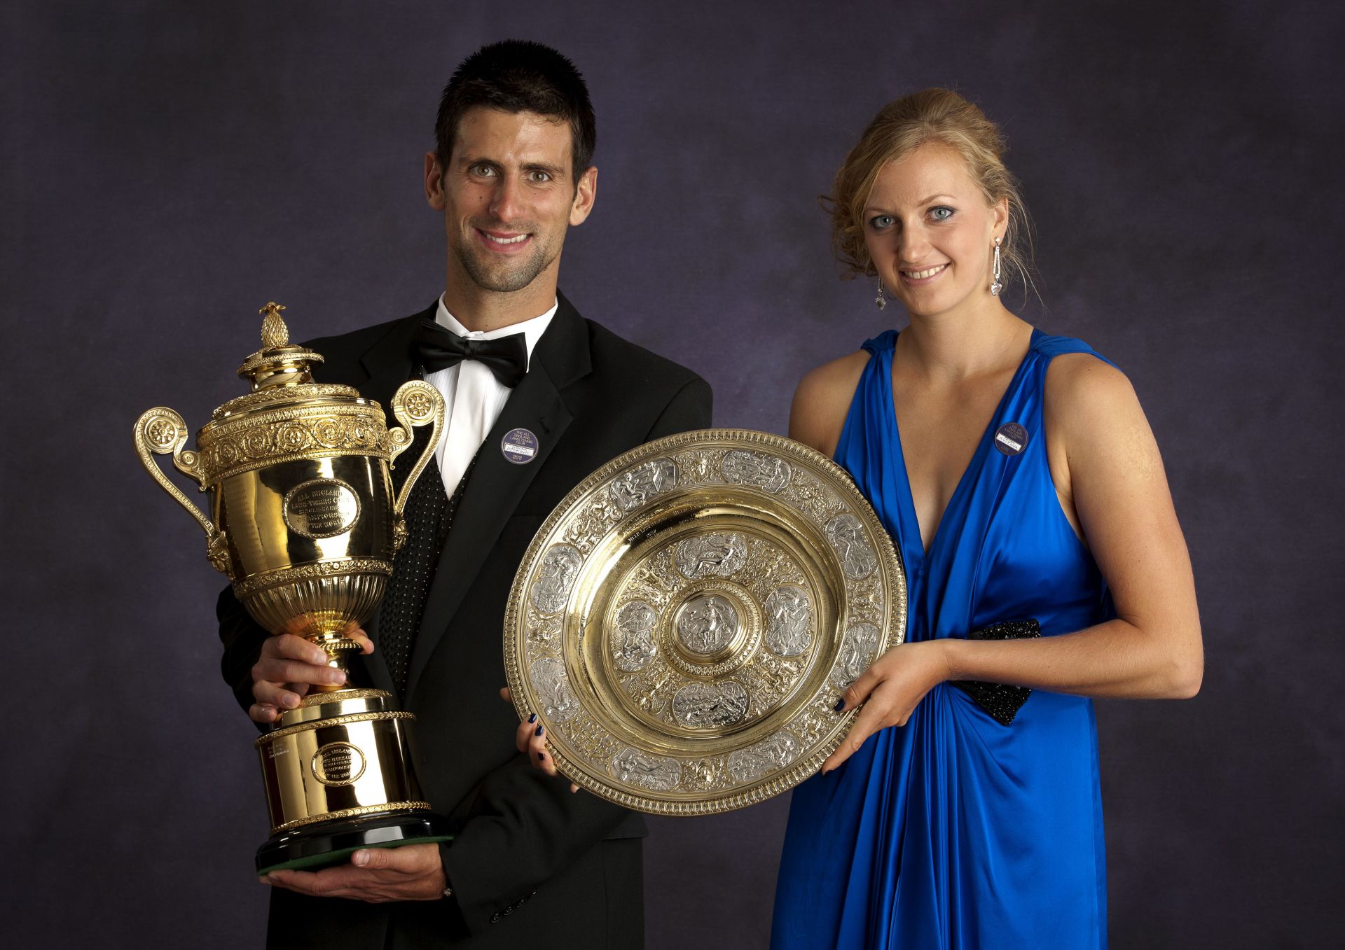
[[[846,691],[863,703],[829,771],[873,732],[901,726],[943,680],[981,680],[1081,696],[1185,699],[1204,653],[1190,558],[1153,431],[1130,382],[1087,355],[1046,376],[1048,453],[1065,511],[1111,589],[1116,619],[1015,641],[936,640],[888,650]]]

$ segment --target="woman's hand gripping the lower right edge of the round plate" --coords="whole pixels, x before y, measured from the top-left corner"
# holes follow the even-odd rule
[[[863,672],[841,696],[837,712],[863,705],[839,748],[822,763],[823,774],[849,759],[865,740],[889,726],[905,726],[927,692],[951,679],[944,644],[898,644]]]

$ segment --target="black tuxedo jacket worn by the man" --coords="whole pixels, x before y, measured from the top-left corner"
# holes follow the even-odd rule
[[[412,378],[416,324],[433,318],[436,306],[313,340],[325,357],[315,376],[355,386],[386,408]],[[514,750],[516,716],[499,697],[504,605],[525,548],[576,484],[642,442],[709,425],[705,380],[584,320],[560,297],[467,482],[402,701],[417,718],[425,795],[455,825],[441,855],[456,896],[367,904],[276,888],[270,946],[640,946],[644,822],[586,791],[572,794],[565,779],[537,771]],[[512,429],[537,435],[534,461],[515,465],[500,454]],[[227,589],[218,614],[225,679],[246,708],[250,668],[268,634]],[[377,618],[370,628],[377,642]],[[379,652],[362,662],[367,683],[395,695]]]

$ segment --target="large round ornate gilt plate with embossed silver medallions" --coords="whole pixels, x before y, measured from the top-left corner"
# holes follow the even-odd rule
[[[841,466],[705,429],[627,451],[551,512],[510,591],[504,669],[572,782],[710,814],[815,773],[855,715],[837,699],[905,625],[897,551]]]

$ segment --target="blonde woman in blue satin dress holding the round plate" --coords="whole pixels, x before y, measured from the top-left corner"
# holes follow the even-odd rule
[[[837,175],[838,257],[909,325],[810,372],[790,434],[898,543],[909,623],[794,791],[780,950],[1106,947],[1088,697],[1200,688],[1190,560],[1134,390],[1003,305],[1026,222],[1002,150],[976,106],[931,89],[884,107]],[[1026,621],[1040,637],[971,636]],[[978,701],[958,681],[1006,685]]]

